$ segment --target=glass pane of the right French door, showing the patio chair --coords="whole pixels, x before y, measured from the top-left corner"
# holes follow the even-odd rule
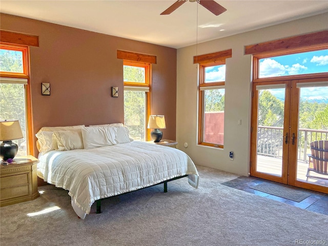
[[[300,88],[297,147],[297,180],[328,187],[328,86]]]

